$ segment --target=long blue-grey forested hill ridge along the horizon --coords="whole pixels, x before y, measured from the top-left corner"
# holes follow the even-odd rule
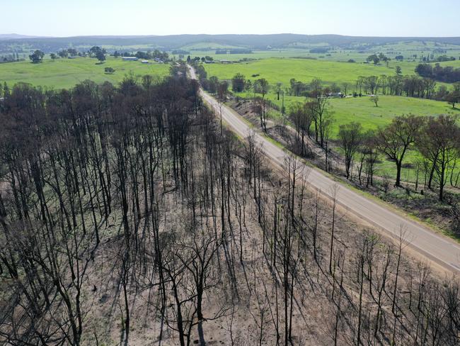
[[[14,34],[12,34],[14,35]],[[174,50],[190,45],[210,47],[216,45],[224,47],[241,47],[251,49],[292,48],[292,45],[316,45],[324,43],[341,48],[359,48],[362,45],[384,45],[397,42],[425,42],[433,41],[441,44],[460,45],[460,37],[450,38],[410,38],[410,37],[364,37],[343,35],[297,35],[297,34],[274,34],[274,35],[146,35],[146,36],[76,36],[70,38],[27,38],[11,37],[12,35],[0,35],[1,40],[8,43],[26,43],[32,48],[41,49],[45,52],[53,52],[70,46],[79,47],[88,45],[104,45],[113,48],[127,46],[149,45],[151,48],[162,50]]]

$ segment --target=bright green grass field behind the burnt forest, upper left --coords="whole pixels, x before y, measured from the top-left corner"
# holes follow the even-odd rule
[[[17,82],[30,83],[35,86],[62,89],[91,79],[94,82],[105,81],[120,82],[126,74],[133,73],[135,76],[152,74],[163,77],[169,72],[169,65],[142,64],[140,61],[123,61],[120,58],[107,57],[107,60],[97,65],[96,59],[90,57],[77,57],[76,59],[50,59],[43,60],[40,64],[32,64],[28,61],[8,62],[0,64],[0,82],[6,82],[12,86]],[[115,73],[105,74],[105,67],[113,67]]]

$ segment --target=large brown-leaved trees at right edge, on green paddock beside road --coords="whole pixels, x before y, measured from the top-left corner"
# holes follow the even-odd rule
[[[396,186],[401,186],[401,169],[409,150],[422,155],[417,172],[416,189],[420,172],[424,186],[439,189],[439,200],[444,199],[444,186],[448,182],[458,186],[460,173],[460,126],[455,116],[398,116],[378,130],[364,132],[359,123],[340,125],[338,138],[345,156],[347,179],[352,176],[355,160],[358,161],[358,179],[367,173],[366,184],[372,184],[377,153],[385,155],[396,164]],[[364,169],[364,170],[363,170]]]

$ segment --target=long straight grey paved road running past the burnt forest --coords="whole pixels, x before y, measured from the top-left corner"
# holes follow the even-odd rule
[[[196,79],[195,71],[190,69],[190,76]],[[212,96],[200,91],[202,98],[214,108],[219,115],[219,104]],[[236,111],[222,105],[222,119],[229,124],[231,130],[241,138],[245,138],[250,133],[250,126],[244,122]],[[255,133],[255,138],[263,144],[265,155],[267,155],[274,164],[279,167],[284,166],[284,160],[288,156],[280,147],[277,147],[262,135]],[[331,196],[333,186],[338,183],[330,179],[320,169],[309,168],[306,177],[308,183],[326,196]],[[404,232],[404,239],[408,245],[422,256],[427,257],[433,262],[439,264],[449,272],[460,274],[460,247],[454,241],[442,235],[437,235],[434,230],[430,230],[425,225],[411,221],[384,203],[373,201],[367,197],[358,194],[347,186],[340,184],[336,192],[336,199],[340,206],[347,209],[357,218],[367,221],[374,225],[386,235],[399,239],[401,229]]]

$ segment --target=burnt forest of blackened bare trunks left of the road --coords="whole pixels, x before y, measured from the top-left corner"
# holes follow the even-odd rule
[[[294,157],[272,172],[171,72],[6,91],[1,343],[456,345],[456,280],[343,221]]]

